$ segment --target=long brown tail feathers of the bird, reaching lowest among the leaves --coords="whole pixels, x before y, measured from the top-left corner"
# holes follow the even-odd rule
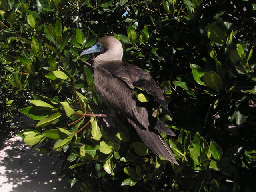
[[[147,129],[142,129],[133,120],[128,119],[128,122],[134,126],[136,132],[143,140],[143,142],[152,150],[156,155],[160,155],[171,163],[177,164],[178,162],[173,156],[172,150],[168,147],[166,142],[164,142],[162,136],[157,131],[150,131]]]

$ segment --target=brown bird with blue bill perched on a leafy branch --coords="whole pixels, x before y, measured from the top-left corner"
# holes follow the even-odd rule
[[[94,84],[102,101],[119,110],[136,129],[143,142],[156,155],[178,164],[172,151],[164,142],[160,132],[175,136],[164,123],[146,108],[138,108],[134,99],[135,87],[140,87],[154,97],[165,110],[168,109],[162,90],[150,74],[141,68],[122,62],[123,48],[120,41],[112,36],[101,38],[96,45],[83,51],[82,55],[103,52],[94,59]]]

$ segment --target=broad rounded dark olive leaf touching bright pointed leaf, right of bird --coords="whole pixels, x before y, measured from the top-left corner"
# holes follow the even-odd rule
[[[214,71],[205,72],[205,74],[202,76],[202,80],[207,87],[210,87],[216,91],[222,90],[224,85],[220,76],[218,76],[218,74],[216,74]]]

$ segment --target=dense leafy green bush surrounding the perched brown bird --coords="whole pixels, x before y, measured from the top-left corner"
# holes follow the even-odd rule
[[[81,191],[253,191],[255,10],[250,0],[2,0],[1,94],[30,100],[20,112],[39,121],[19,135],[58,151]],[[106,126],[92,61],[79,57],[105,35],[165,91],[170,113],[158,118],[175,130],[162,136],[180,165],[122,119]]]

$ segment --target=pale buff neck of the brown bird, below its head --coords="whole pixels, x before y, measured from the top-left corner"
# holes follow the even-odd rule
[[[107,62],[107,61],[122,61],[122,57],[123,57],[123,50],[120,50],[120,49],[107,50],[105,53],[98,55],[94,59],[94,67],[96,67],[97,64],[102,64],[103,62]]]

